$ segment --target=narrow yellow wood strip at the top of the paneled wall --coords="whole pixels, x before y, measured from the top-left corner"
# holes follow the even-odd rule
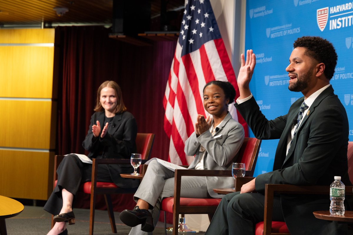
[[[0,43],[54,43],[55,29],[0,29]]]

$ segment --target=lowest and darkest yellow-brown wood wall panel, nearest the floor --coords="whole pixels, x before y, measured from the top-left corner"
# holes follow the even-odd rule
[[[0,149],[0,194],[47,200],[53,190],[53,152]]]

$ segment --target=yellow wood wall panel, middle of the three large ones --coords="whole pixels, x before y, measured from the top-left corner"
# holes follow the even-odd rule
[[[50,148],[52,101],[0,100],[0,107],[0,147]]]

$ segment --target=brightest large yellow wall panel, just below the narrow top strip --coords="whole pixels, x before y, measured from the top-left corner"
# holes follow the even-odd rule
[[[54,47],[0,47],[0,97],[52,98],[53,60]]]

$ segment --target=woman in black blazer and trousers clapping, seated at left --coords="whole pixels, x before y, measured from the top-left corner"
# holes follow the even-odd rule
[[[128,159],[136,151],[137,125],[133,115],[126,111],[121,89],[114,81],[105,81],[98,88],[96,111],[91,117],[88,133],[82,145],[92,158]],[[92,164],[83,163],[75,154],[69,154],[60,163],[58,181],[44,210],[55,215],[54,227],[48,235],[67,234],[66,222],[75,223],[72,202],[80,184],[91,180]],[[124,165],[98,165],[98,181],[114,182],[122,188],[137,187],[138,182],[120,177],[131,173]]]

